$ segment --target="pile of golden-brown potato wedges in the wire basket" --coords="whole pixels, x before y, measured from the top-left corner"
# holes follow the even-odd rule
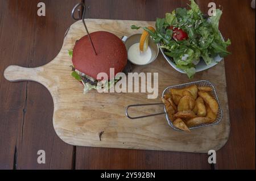
[[[170,89],[162,98],[172,124],[183,131],[213,123],[217,118],[218,102],[211,95],[212,87],[192,85]]]

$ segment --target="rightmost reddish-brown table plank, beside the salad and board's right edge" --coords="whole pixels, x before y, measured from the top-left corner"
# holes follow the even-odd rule
[[[207,2],[199,1],[205,12]],[[231,132],[216,169],[255,169],[255,10],[250,1],[213,2],[222,6],[220,29],[232,40],[225,58]]]

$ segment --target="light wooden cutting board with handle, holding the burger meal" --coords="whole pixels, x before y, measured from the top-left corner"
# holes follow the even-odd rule
[[[147,27],[154,22],[130,20],[87,19],[90,32],[108,31],[118,37],[140,33],[131,30],[131,24]],[[195,129],[191,133],[176,132],[164,115],[139,120],[125,116],[125,107],[130,104],[158,103],[162,91],[172,85],[189,82],[187,75],[174,70],[162,54],[147,66],[134,66],[133,72],[159,73],[159,92],[157,99],[147,99],[146,93],[104,93],[90,91],[83,94],[83,86],[71,77],[72,65],[68,50],[73,49],[75,41],[86,34],[82,22],[72,24],[65,35],[60,53],[51,62],[38,68],[9,66],[5,78],[9,81],[36,81],[51,92],[54,112],[53,127],[57,135],[71,145],[106,148],[171,150],[207,153],[225,145],[229,137],[230,123],[224,61],[209,70],[197,73],[191,81],[208,80],[216,86],[224,117],[220,124]],[[139,108],[134,115],[162,112],[163,107]],[[103,132],[101,141],[99,133]]]

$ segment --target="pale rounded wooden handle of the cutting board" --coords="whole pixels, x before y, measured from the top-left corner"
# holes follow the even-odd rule
[[[36,77],[42,72],[43,68],[23,68],[17,65],[10,65],[5,69],[3,75],[10,82],[17,81],[36,81]]]

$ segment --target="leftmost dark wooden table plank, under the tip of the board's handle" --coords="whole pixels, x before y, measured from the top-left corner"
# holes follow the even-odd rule
[[[16,142],[18,132],[22,127],[23,108],[26,101],[26,82],[18,82],[10,84],[3,78],[3,70],[10,63],[27,66],[27,55],[16,53],[21,49],[25,52],[29,51],[29,41],[22,43],[16,39],[20,32],[16,31],[18,20],[19,27],[26,27],[24,20],[18,18],[18,14],[9,12],[9,3],[0,1],[0,168],[13,169],[14,157],[16,151]],[[13,11],[18,9],[16,3],[10,3],[13,6]],[[7,16],[9,14],[9,17]],[[10,21],[13,23],[9,23]],[[31,30],[24,31],[24,36],[32,33]],[[11,42],[11,43],[10,43]],[[19,55],[20,59],[17,58]],[[3,61],[6,60],[6,61]],[[11,90],[11,91],[10,91]],[[15,97],[15,98],[14,98]]]

